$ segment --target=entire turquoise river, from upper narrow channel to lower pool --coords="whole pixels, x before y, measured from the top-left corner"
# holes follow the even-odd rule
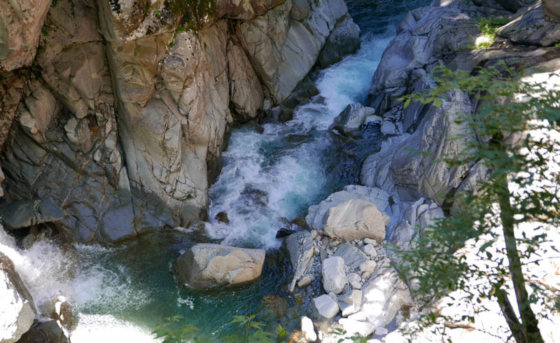
[[[173,260],[199,232],[157,232],[116,248],[77,245],[80,269],[66,273],[69,257],[48,242],[29,251],[15,248],[0,232],[0,250],[15,262],[41,304],[62,293],[79,313],[72,342],[151,342],[150,332],[166,316],[200,328],[219,341],[235,328],[236,314],[259,314],[259,320],[288,328],[300,311],[309,310],[286,293],[290,277],[285,260],[274,253],[283,223],[307,214],[311,204],[358,181],[360,162],[379,148],[379,128],[342,141],[328,130],[347,104],[363,102],[381,54],[402,16],[426,0],[353,0],[349,11],[362,30],[360,50],[314,79],[320,95],[301,104],[287,123],[245,125],[233,130],[223,153],[223,171],[210,189],[208,239],[269,250],[261,279],[237,290],[210,294],[176,287]],[[229,224],[214,218],[225,212]],[[288,307],[288,309],[283,309]],[[276,316],[281,315],[281,318]]]

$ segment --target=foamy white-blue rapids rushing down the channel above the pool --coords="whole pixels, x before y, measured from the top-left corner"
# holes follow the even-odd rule
[[[234,130],[223,169],[210,188],[207,234],[225,244],[276,248],[276,231],[286,221],[334,191],[330,174],[332,120],[353,102],[364,102],[381,54],[391,34],[366,35],[356,55],[315,76],[320,95],[295,109],[287,123],[267,123],[259,134]],[[229,223],[216,215],[225,212]]]

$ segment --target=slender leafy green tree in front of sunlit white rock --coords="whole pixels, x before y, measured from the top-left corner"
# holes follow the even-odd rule
[[[426,309],[461,290],[470,302],[496,300],[517,342],[542,342],[529,305],[558,311],[559,302],[523,264],[538,264],[535,252],[547,241],[542,229],[559,224],[560,172],[550,163],[559,156],[560,146],[546,132],[560,129],[560,91],[525,82],[522,76],[503,62],[473,73],[440,68],[433,74],[435,87],[402,97],[405,106],[419,101],[439,108],[449,92],[468,93],[479,104],[475,114],[459,113],[461,123],[470,128],[463,138],[470,140],[461,153],[444,160],[450,166],[478,163],[490,176],[475,190],[456,195],[453,216],[419,232],[409,250],[398,251],[398,268]],[[533,225],[532,232],[521,230],[527,225]],[[499,243],[500,237],[505,244]],[[465,244],[475,248],[479,262],[457,253]],[[521,318],[507,298],[511,288]],[[468,325],[475,317],[462,319]],[[455,320],[430,313],[422,316],[419,329],[442,321]]]

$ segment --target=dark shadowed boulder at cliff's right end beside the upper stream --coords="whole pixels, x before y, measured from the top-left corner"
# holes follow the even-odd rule
[[[350,15],[344,16],[328,36],[315,66],[322,69],[339,62],[345,55],[356,52],[360,43],[360,27]]]

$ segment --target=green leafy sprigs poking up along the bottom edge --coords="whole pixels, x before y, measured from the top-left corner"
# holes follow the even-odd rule
[[[276,326],[276,332],[264,330],[265,324],[255,321],[256,314],[250,316],[233,316],[229,324],[235,324],[239,329],[239,333],[225,337],[223,342],[255,342],[255,343],[274,343],[284,342],[288,332],[282,325]],[[183,343],[183,342],[210,342],[208,337],[203,337],[200,329],[194,325],[179,325],[183,316],[176,315],[165,318],[164,323],[156,326],[152,332],[154,338],[164,338],[164,343]]]

